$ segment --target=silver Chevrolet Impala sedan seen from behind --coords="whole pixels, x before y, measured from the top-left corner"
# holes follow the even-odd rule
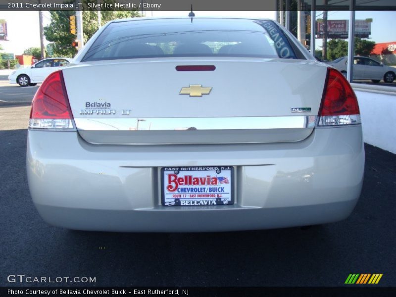
[[[37,91],[27,171],[48,223],[201,232],[347,218],[357,99],[266,19],[112,21]]]

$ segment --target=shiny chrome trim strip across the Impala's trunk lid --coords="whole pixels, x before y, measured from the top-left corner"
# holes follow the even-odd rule
[[[316,116],[251,116],[194,118],[75,118],[77,130],[87,131],[172,131],[252,130],[315,127]]]

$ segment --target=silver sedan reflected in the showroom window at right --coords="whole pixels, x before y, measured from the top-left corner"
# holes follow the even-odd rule
[[[347,76],[347,57],[341,57],[331,62],[331,65]],[[353,79],[367,80],[374,83],[384,80],[386,83],[392,83],[396,77],[396,68],[386,66],[369,57],[353,57]]]

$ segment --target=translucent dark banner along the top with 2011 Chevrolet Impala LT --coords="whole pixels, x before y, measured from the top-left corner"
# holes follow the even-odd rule
[[[0,10],[139,10],[139,11],[275,11],[282,0],[0,0]],[[283,0],[284,1],[284,0]],[[284,1],[285,2],[285,1]],[[290,1],[285,10],[310,10],[312,0]],[[356,10],[396,10],[395,0],[359,2]],[[349,10],[349,0],[325,4],[316,0],[316,10]]]

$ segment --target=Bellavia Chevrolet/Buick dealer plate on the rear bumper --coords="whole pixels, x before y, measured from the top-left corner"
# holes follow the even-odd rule
[[[234,167],[163,167],[161,202],[177,205],[234,204]]]

